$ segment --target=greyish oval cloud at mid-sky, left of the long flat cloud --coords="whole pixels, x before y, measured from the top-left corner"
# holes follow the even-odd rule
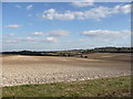
[[[48,32],[48,35],[50,36],[68,36],[70,32],[64,30],[55,30],[52,32]]]

